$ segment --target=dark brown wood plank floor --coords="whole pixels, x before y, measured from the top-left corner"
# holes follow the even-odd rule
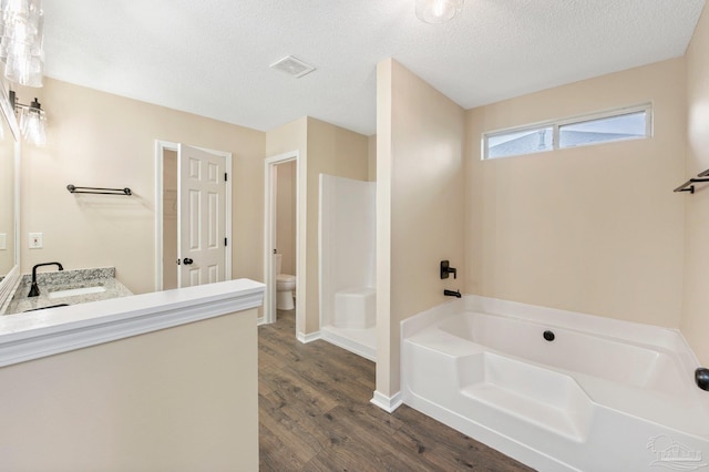
[[[401,406],[370,403],[374,363],[295,338],[295,311],[258,328],[261,471],[530,471]]]

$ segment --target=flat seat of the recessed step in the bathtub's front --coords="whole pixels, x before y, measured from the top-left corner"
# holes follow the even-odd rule
[[[587,420],[494,383],[480,382],[461,389],[461,393],[573,441],[583,442],[588,435]]]

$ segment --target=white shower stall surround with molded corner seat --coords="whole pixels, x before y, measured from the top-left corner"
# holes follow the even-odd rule
[[[377,343],[376,185],[320,174],[320,335],[370,360]]]

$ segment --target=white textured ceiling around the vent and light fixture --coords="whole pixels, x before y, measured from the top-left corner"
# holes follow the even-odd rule
[[[465,109],[682,55],[705,0],[44,0],[45,74],[268,131],[304,115],[376,133],[394,58]],[[294,55],[317,70],[270,70]]]

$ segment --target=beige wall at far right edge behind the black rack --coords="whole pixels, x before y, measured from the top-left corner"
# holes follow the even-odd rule
[[[705,10],[687,50],[687,154],[684,179],[709,168],[709,13]],[[679,185],[679,184],[678,184]],[[709,366],[709,186],[697,184],[685,203],[686,250],[681,331]]]

